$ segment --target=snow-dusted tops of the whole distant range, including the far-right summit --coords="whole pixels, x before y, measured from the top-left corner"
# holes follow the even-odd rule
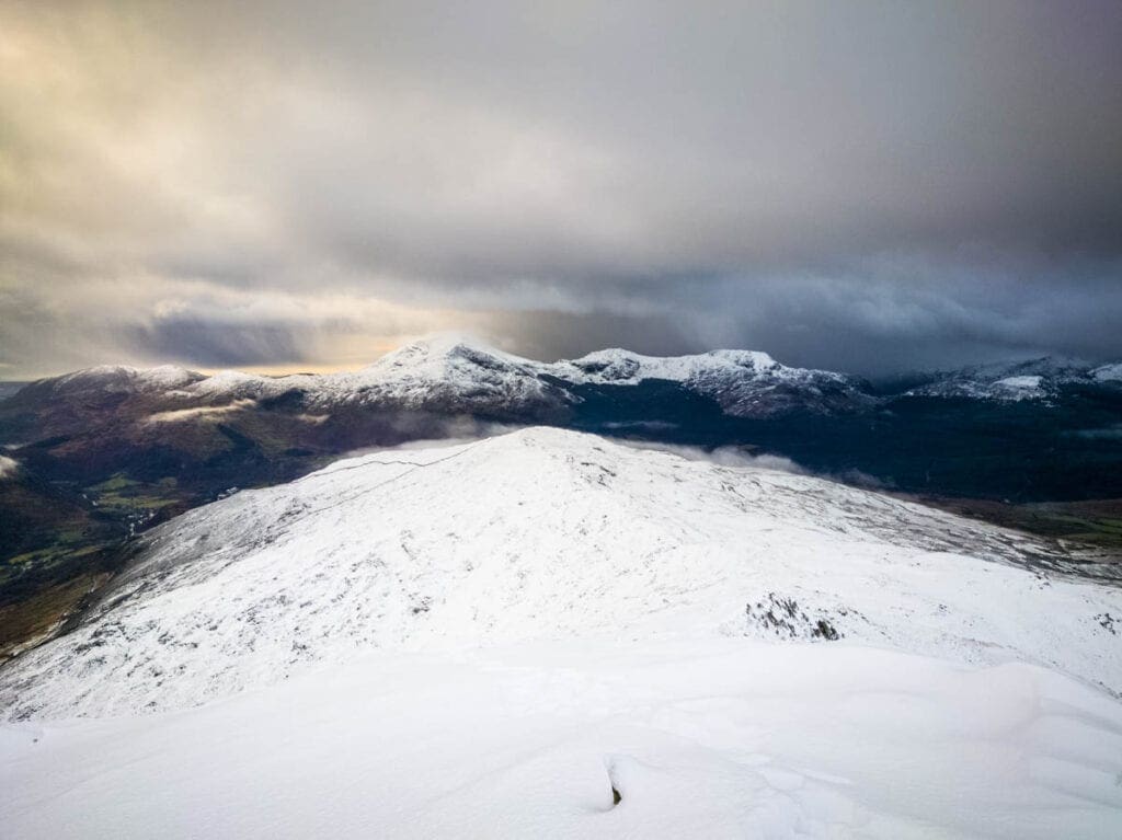
[[[895,397],[1047,403],[1064,387],[1122,387],[1122,363],[1096,368],[1043,358],[935,372],[927,379],[926,385]],[[678,382],[712,399],[726,414],[739,417],[778,416],[792,410],[834,414],[868,409],[884,401],[856,377],[788,367],[760,351],[712,350],[652,357],[608,349],[579,359],[542,362],[454,334],[421,339],[352,372],[265,377],[226,370],[204,376],[172,366],[102,366],[34,382],[22,396],[31,401],[74,400],[91,394],[141,397],[146,406],[155,400],[162,408],[153,414],[154,422],[203,416],[197,409],[208,406],[245,409],[257,401],[292,395],[298,395],[302,405],[312,412],[374,405],[549,415],[580,401],[582,386],[635,386],[650,380]]]

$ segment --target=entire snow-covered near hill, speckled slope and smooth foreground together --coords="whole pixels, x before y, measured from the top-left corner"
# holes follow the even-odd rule
[[[0,671],[0,814],[33,839],[1118,838],[1120,592],[758,467],[542,428],[383,452],[155,529]],[[120,717],[52,722],[79,716]]]

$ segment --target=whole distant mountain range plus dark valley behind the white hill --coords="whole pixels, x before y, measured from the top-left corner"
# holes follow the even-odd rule
[[[100,367],[44,379],[0,400],[0,650],[57,630],[132,535],[199,505],[353,451],[533,424],[781,458],[1114,551],[1114,507],[1041,517],[1005,502],[1122,498],[1120,376],[1042,359],[885,385],[754,351],[540,362],[438,336],[353,372]]]

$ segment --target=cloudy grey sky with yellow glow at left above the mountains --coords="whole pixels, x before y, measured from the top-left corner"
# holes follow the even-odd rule
[[[1122,3],[0,1],[0,379],[1122,359]]]

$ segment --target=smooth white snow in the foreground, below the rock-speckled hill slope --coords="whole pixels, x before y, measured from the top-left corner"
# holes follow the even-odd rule
[[[1120,773],[1122,705],[1040,667],[609,637],[0,728],[0,819],[20,840],[1116,840]]]

